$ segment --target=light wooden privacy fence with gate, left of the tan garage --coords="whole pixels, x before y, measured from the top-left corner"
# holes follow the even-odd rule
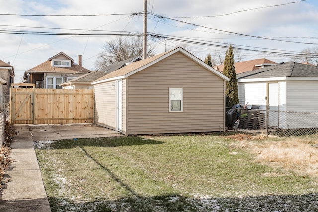
[[[92,89],[11,88],[13,124],[73,124],[94,122]]]

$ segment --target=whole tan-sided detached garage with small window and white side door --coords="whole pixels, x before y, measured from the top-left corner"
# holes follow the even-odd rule
[[[94,81],[95,123],[126,135],[225,130],[225,81],[182,48]]]

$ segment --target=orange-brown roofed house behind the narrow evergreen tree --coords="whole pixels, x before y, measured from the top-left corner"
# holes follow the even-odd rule
[[[261,69],[267,66],[272,66],[275,65],[277,63],[270,61],[266,58],[261,58],[261,59],[255,59],[255,60],[249,60],[249,61],[241,61],[241,62],[237,62],[234,63],[234,68],[235,68],[235,73],[239,74],[239,73],[244,73],[247,71],[253,71],[253,70],[257,70],[257,69]],[[213,67],[214,69],[216,69],[217,71],[220,71],[221,73],[223,72],[223,68],[224,65],[218,65]]]

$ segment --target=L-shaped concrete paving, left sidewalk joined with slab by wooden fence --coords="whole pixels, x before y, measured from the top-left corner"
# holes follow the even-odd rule
[[[0,212],[51,212],[33,141],[122,136],[98,125],[15,125],[17,135],[11,143],[6,175],[11,182],[3,189]]]

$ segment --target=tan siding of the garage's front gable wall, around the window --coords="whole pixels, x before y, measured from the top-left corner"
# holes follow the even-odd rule
[[[183,112],[169,112],[169,87],[183,88]],[[224,80],[181,53],[129,77],[128,134],[224,129]]]

